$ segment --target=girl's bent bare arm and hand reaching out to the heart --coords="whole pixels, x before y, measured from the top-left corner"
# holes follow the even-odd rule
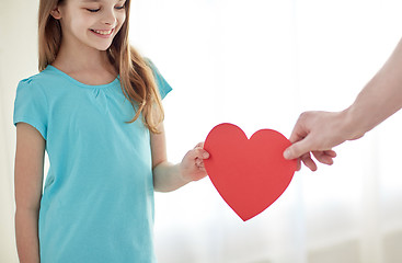
[[[204,168],[204,159],[207,159],[209,153],[203,149],[203,144],[198,144],[193,150],[189,150],[181,163],[172,164],[168,162],[166,158],[163,124],[158,129],[161,132],[160,134],[151,133],[154,191],[174,191],[207,175]]]

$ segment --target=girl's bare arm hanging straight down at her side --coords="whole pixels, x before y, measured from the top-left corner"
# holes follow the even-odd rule
[[[15,238],[20,263],[39,263],[38,215],[45,139],[26,123],[16,124]]]

